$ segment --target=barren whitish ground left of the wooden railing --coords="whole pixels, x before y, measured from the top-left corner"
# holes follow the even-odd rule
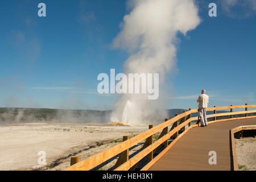
[[[70,166],[69,155],[77,152],[83,160],[114,146],[123,135],[146,130],[147,126],[74,123],[0,126],[0,170],[63,170]],[[46,152],[46,166],[38,164],[39,151]]]

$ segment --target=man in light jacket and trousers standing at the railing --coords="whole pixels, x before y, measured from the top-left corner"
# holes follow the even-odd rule
[[[201,95],[197,98],[197,102],[199,102],[199,114],[201,119],[201,126],[207,126],[207,106],[209,103],[209,96],[205,94],[205,89],[201,91]]]

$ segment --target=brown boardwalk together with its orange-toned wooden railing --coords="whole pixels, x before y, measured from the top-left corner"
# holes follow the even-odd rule
[[[181,114],[175,114],[174,118],[166,118],[165,122],[160,125],[155,127],[149,125],[147,131],[135,137],[123,136],[122,143],[90,156],[81,162],[77,162],[65,170],[90,170],[116,156],[118,156],[118,160],[114,165],[114,171],[133,170],[145,156],[148,156],[148,159],[151,160],[141,169],[142,171],[230,170],[233,169],[233,163],[234,169],[237,169],[236,154],[234,154],[234,160],[233,155],[230,155],[230,152],[232,152],[230,150],[230,129],[238,126],[256,125],[256,115],[251,114],[256,113],[256,110],[248,110],[251,107],[256,107],[256,105],[209,107],[207,111],[213,111],[213,114],[207,116],[208,118],[213,118],[213,121],[209,123],[208,127],[191,125],[192,121],[198,120],[198,117],[192,117],[192,114],[197,113],[198,109],[184,110]],[[224,109],[230,109],[230,112],[217,113],[217,110]],[[245,110],[235,111],[235,109]],[[220,118],[224,116],[229,116],[229,118]],[[169,126],[172,127],[168,128]],[[177,136],[178,131],[183,131],[183,133]],[[153,140],[153,136],[158,132],[161,132],[159,138]],[[171,144],[167,145],[167,141],[170,138],[175,139]],[[136,146],[139,142],[144,143],[141,150],[134,156],[129,156],[129,149]],[[154,158],[155,149],[163,143],[166,148]],[[217,165],[209,164],[210,156],[208,154],[210,151],[217,152]],[[75,157],[79,158],[78,156]]]

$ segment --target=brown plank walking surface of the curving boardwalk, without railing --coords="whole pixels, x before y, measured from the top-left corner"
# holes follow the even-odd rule
[[[242,125],[256,125],[256,119],[216,122],[207,127],[194,127],[148,170],[230,170],[229,130]],[[209,151],[216,151],[217,164],[210,165]]]

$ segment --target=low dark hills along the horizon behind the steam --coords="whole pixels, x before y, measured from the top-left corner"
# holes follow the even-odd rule
[[[175,113],[181,114],[184,109],[167,109],[164,117],[173,118]],[[187,111],[187,110],[185,110]],[[229,111],[217,110],[217,113],[228,113]],[[0,122],[79,122],[79,123],[106,123],[110,122],[112,110],[69,110],[69,109],[39,109],[39,108],[9,108],[0,107]],[[213,111],[207,111],[213,114]],[[249,114],[249,115],[255,115]],[[192,113],[192,117],[199,116],[199,113]],[[239,115],[238,115],[239,116]],[[234,115],[234,117],[238,117]],[[241,117],[241,115],[240,115]],[[229,116],[218,117],[229,118]],[[156,118],[158,123],[163,118]]]

